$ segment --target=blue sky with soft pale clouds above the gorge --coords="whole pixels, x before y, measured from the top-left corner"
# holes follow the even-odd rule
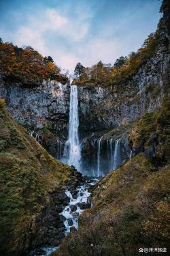
[[[0,38],[30,45],[73,72],[137,51],[160,19],[160,0],[0,0]]]

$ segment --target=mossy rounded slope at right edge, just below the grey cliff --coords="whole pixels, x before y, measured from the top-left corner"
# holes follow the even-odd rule
[[[154,156],[160,164],[170,160],[170,98],[161,109],[144,114],[129,134],[133,149]]]

